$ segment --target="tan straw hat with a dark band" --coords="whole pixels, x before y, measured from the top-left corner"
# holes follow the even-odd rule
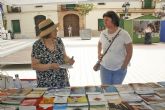
[[[53,32],[57,28],[57,26],[58,25],[54,24],[54,22],[49,18],[42,21],[38,25],[39,31],[40,31],[39,36],[42,38],[42,37],[50,34],[51,32]]]

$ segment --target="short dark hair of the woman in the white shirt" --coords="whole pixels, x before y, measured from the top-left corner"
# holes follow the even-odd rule
[[[112,19],[112,23],[114,25],[116,25],[116,26],[119,26],[120,18],[114,11],[107,11],[106,13],[103,14],[103,18],[104,17],[111,18]]]

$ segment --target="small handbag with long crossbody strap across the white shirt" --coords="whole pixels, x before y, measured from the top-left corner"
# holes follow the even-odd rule
[[[103,59],[103,57],[105,56],[105,54],[108,52],[108,50],[109,50],[109,48],[111,47],[111,45],[112,45],[112,43],[114,42],[114,40],[115,40],[115,39],[117,38],[117,36],[119,35],[119,32],[120,32],[120,31],[121,31],[121,29],[120,29],[120,30],[118,31],[118,33],[113,37],[112,42],[110,42],[108,48],[107,48],[106,51],[104,52],[104,54],[103,54],[103,56],[101,57],[101,59],[98,60],[98,61],[96,62],[96,64],[93,66],[93,70],[94,70],[94,71],[100,70],[100,66],[101,66],[100,62],[102,61],[102,59]]]

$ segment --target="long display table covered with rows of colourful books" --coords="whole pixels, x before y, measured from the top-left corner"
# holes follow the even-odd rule
[[[6,110],[165,110],[165,82],[0,91]]]

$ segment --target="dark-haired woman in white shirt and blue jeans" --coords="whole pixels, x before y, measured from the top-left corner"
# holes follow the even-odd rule
[[[112,39],[117,36],[101,60],[101,83],[102,85],[121,84],[132,57],[132,39],[127,31],[119,27],[119,17],[114,11],[104,13],[103,20],[106,29],[100,34],[98,59],[102,58]]]

